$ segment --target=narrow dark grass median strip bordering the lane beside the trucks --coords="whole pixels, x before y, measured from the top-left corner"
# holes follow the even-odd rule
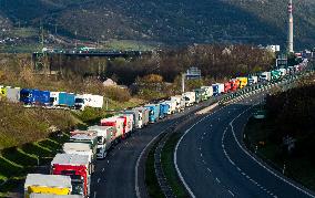
[[[159,140],[151,147],[146,161],[145,161],[145,185],[148,194],[152,198],[164,197],[162,189],[159,186],[159,181],[155,175],[154,168],[154,152],[159,144]]]

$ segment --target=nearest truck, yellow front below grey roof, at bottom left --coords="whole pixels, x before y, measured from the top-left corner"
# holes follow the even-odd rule
[[[31,194],[71,195],[70,176],[28,174],[24,183],[24,197]]]

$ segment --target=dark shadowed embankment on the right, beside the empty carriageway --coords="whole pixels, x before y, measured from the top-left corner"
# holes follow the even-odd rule
[[[251,118],[245,128],[247,147],[284,175],[315,190],[314,76],[298,87],[266,98],[265,119]],[[285,137],[294,144],[291,150]],[[285,167],[285,168],[284,168]]]

